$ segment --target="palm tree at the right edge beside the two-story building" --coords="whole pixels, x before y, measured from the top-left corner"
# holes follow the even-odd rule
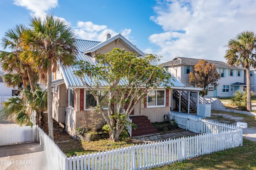
[[[250,66],[256,67],[256,35],[254,32],[241,32],[229,40],[224,58],[228,65],[246,68],[246,93],[251,93]],[[251,95],[246,96],[246,109],[252,111]]]

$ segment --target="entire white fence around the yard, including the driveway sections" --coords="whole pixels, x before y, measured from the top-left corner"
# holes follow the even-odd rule
[[[242,146],[242,130],[238,127],[200,119],[193,115],[184,116],[172,112],[169,115],[170,119],[175,119],[179,127],[201,134],[67,158],[42,129],[33,126],[17,127],[22,130],[0,129],[0,145],[39,139],[46,153],[47,169],[53,170],[145,170]],[[12,141],[6,142],[5,135],[12,136]],[[22,136],[30,138],[24,139]],[[14,140],[15,138],[22,141]]]

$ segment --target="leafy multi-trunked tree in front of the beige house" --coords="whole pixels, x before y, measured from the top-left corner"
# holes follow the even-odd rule
[[[106,120],[110,138],[118,141],[127,123],[126,118],[136,104],[160,84],[170,88],[168,84],[172,77],[162,65],[152,65],[153,61],[159,61],[159,57],[152,54],[137,57],[134,52],[114,48],[107,54],[96,55],[95,59],[97,65],[85,61],[76,62],[79,69],[74,74],[81,78],[86,75],[91,78],[90,84],[84,84],[96,100],[97,106],[94,109]],[[102,81],[108,84],[104,87],[104,94],[108,95],[107,111],[100,104],[100,89],[104,86]],[[127,109],[124,112],[125,105]]]

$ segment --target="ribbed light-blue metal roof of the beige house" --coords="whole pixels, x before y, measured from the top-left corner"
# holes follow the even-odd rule
[[[127,40],[128,41],[128,40]],[[96,41],[88,41],[88,40],[76,40],[76,47],[78,49],[78,53],[76,54],[77,60],[83,60],[87,61],[90,64],[96,65],[96,61],[94,61],[93,57],[90,55],[90,53],[84,53],[87,49],[92,49],[92,47],[98,45],[100,42]],[[152,63],[156,64],[156,63]],[[68,66],[68,67],[61,67],[60,71],[62,73],[64,82],[66,84],[67,88],[85,88],[86,86],[84,85],[83,82],[86,82],[88,84],[93,85],[94,79],[90,78],[88,75],[86,75],[82,80],[79,77],[76,77],[74,75],[74,71],[79,70],[78,66]],[[174,86],[178,87],[185,87],[180,81],[174,78],[174,81],[170,82],[173,83]],[[100,81],[100,84],[102,87],[107,87],[108,83],[106,81]],[[125,86],[126,82],[122,79],[120,80],[119,85]]]

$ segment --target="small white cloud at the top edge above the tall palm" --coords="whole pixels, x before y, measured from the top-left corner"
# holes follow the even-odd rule
[[[13,4],[32,11],[31,15],[44,16],[48,10],[58,6],[58,0],[14,0]]]

